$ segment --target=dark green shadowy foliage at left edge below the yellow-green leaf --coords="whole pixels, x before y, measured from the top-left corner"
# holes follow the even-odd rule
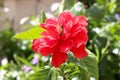
[[[14,34],[13,29],[0,32],[0,58],[7,57],[7,59],[11,61],[14,59],[14,54],[27,57],[32,53],[29,47],[29,41],[11,40]],[[24,42],[26,42],[26,44],[24,44]],[[25,49],[22,49],[22,46],[25,47]]]

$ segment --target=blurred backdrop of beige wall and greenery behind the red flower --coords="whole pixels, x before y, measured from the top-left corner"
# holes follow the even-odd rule
[[[99,80],[120,80],[120,0],[0,0],[0,80],[28,80],[37,68],[49,64],[49,57],[31,50],[31,41],[11,40],[38,26],[43,10],[47,17],[63,10],[85,15],[86,47],[97,56]]]

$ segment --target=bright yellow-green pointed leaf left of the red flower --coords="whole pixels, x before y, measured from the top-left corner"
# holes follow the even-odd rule
[[[41,32],[43,32],[43,28],[36,26],[29,29],[28,31],[16,34],[15,36],[12,37],[12,39],[16,38],[16,39],[32,40],[36,38],[41,38],[40,35]]]

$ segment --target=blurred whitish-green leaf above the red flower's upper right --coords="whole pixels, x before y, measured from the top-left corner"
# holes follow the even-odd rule
[[[70,9],[70,11],[71,11],[74,15],[82,15],[82,14],[85,14],[84,5],[83,5],[81,2],[77,2],[76,4],[74,4],[74,6]]]

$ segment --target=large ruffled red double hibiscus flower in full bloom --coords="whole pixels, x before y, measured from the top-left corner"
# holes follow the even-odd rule
[[[61,13],[58,18],[46,19],[41,27],[42,38],[34,39],[33,51],[42,56],[52,55],[52,65],[59,67],[67,60],[67,53],[71,51],[76,58],[87,56],[85,44],[87,36],[87,20],[84,16],[74,16],[70,12]]]

